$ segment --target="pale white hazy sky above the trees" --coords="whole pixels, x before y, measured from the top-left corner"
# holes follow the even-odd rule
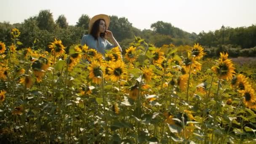
[[[82,14],[125,17],[139,29],[156,21],[187,32],[208,32],[256,24],[256,0],[0,0],[0,22],[21,23],[48,9],[54,20],[61,14],[75,25]]]

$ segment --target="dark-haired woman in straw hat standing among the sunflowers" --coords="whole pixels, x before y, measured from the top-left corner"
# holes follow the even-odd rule
[[[87,45],[89,48],[96,49],[98,52],[104,55],[105,50],[114,48],[116,46],[119,47],[120,51],[122,49],[120,45],[115,40],[112,32],[107,30],[109,27],[110,18],[105,14],[99,14],[93,16],[93,18],[89,21],[89,35],[84,35],[81,39],[81,45]],[[106,39],[108,37],[114,45],[109,43]]]

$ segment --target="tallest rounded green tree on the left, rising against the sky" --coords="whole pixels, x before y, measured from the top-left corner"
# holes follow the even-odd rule
[[[37,26],[41,30],[47,30],[48,32],[53,32],[55,23],[53,20],[53,14],[50,10],[42,10],[37,16]]]

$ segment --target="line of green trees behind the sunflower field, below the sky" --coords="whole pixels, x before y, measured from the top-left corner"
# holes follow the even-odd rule
[[[157,47],[163,44],[192,45],[200,43],[209,47],[216,47],[222,43],[222,30],[215,32],[185,32],[171,23],[157,21],[151,24],[151,29],[137,29],[125,17],[118,18],[110,16],[109,30],[123,48],[127,48],[133,42],[134,36],[147,40]],[[54,38],[62,40],[62,43],[69,47],[72,44],[80,43],[83,35],[88,34],[88,23],[90,17],[83,14],[75,26],[69,25],[64,15],[60,15],[56,21],[50,10],[42,10],[37,16],[29,17],[22,23],[9,24],[0,22],[0,41],[11,45],[10,31],[16,27],[21,31],[20,41],[23,47],[29,47],[36,42],[37,48],[48,48],[48,43]],[[256,46],[256,26],[224,29],[224,42],[234,47],[251,48]]]

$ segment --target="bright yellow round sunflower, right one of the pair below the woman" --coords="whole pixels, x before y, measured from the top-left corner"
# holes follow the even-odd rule
[[[123,79],[126,74],[125,64],[123,61],[109,63],[109,74],[112,81]]]

